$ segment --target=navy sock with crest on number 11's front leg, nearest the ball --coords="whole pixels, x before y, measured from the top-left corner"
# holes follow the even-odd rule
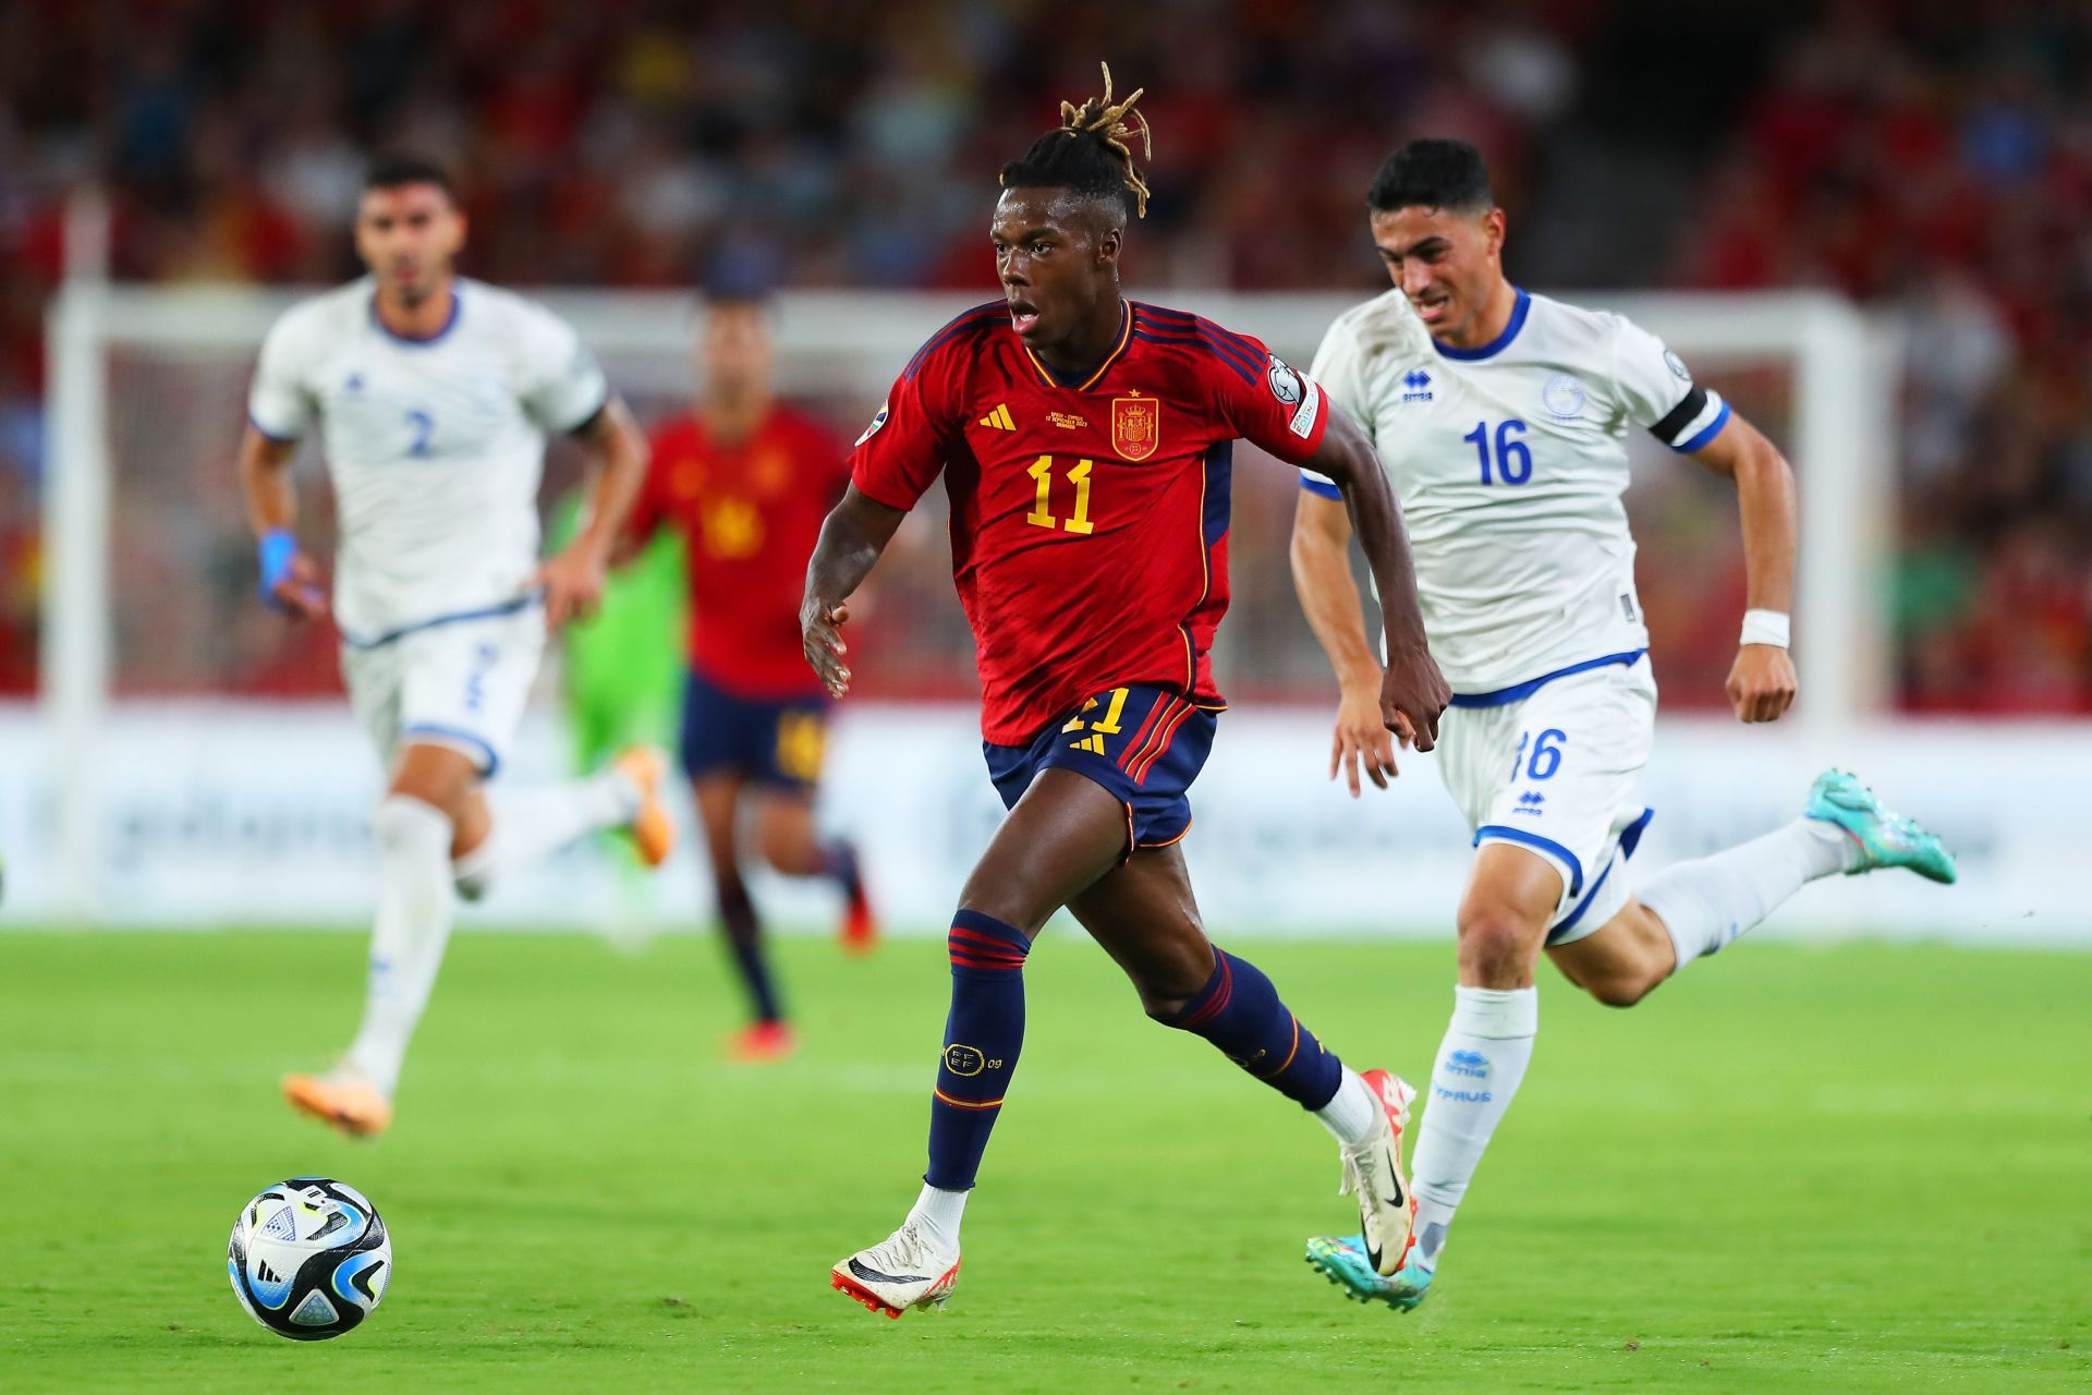
[[[943,1060],[929,1102],[929,1171],[948,1192],[973,1186],[987,1131],[1025,1044],[1023,931],[977,910],[952,916],[952,1012],[943,1021]]]

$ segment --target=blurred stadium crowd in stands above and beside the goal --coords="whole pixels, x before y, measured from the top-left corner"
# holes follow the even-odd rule
[[[33,688],[42,312],[79,182],[123,278],[347,278],[364,155],[397,144],[460,176],[467,268],[498,282],[985,289],[994,169],[1094,54],[1153,88],[1144,289],[1370,293],[1364,188],[1431,132],[1490,155],[1525,284],[1826,284],[1906,316],[1900,703],[2092,711],[2092,10],[2063,0],[17,0],[0,692]],[[1665,699],[1720,703],[1728,512],[1642,529],[1659,655],[1695,676]]]

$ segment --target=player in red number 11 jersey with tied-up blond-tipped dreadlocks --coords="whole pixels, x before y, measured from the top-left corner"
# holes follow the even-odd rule
[[[900,1230],[831,1276],[895,1318],[941,1303],[958,1278],[960,1213],[1023,1044],[1025,954],[1063,906],[1149,1016],[1328,1125],[1383,1272],[1410,1242],[1400,1129],[1412,1092],[1343,1067],[1270,979],[1207,941],[1176,847],[1224,707],[1207,650],[1228,609],[1236,439],[1343,491],[1387,598],[1387,726],[1429,751],[1448,690],[1393,494],[1358,427],[1255,339],[1119,293],[1128,203],[1146,205],[1128,146],[1146,136],[1128,123],[1134,98],[1113,102],[1107,71],[1102,100],[1063,105],[1065,123],[1002,169],[1004,297],[952,320],[902,372],[808,567],[805,653],[841,696],[845,600],[943,475],[983,749],[1010,809],[952,916],[925,1188]]]

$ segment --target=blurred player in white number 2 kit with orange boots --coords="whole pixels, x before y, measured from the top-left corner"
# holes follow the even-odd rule
[[[372,165],[356,218],[370,274],[289,310],[262,345],[241,441],[264,602],[326,613],[297,550],[289,464],[322,429],[339,512],[333,613],[349,703],[387,791],[372,814],[379,908],[362,1029],[326,1075],[285,1096],[347,1134],[379,1134],[408,1037],[444,962],[452,891],[592,828],[628,826],[649,864],[674,830],[659,753],[492,799],[548,627],[594,609],[646,473],[646,441],[573,330],[544,307],[452,274],[464,243],[448,178],[412,157]],[[588,525],[538,558],[548,431],[590,456]]]

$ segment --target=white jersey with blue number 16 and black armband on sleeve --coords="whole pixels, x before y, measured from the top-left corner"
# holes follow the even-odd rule
[[[1519,291],[1494,343],[1452,349],[1389,291],[1331,324],[1310,376],[1395,485],[1456,694],[1648,646],[1621,506],[1628,429],[1692,452],[1728,420],[1661,339]],[[1301,483],[1335,496],[1318,475]]]

